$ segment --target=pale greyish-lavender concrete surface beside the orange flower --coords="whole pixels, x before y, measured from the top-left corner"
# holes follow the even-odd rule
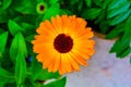
[[[67,74],[66,87],[131,87],[129,57],[118,59],[115,53],[108,53],[112,40],[94,39],[96,53],[87,61],[88,66],[81,66],[81,72]]]

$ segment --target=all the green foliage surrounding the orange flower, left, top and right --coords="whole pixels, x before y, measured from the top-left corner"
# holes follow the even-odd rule
[[[44,3],[43,12],[38,4]],[[118,38],[110,52],[131,53],[130,0],[0,0],[0,87],[64,87],[66,77],[43,70],[31,41],[39,23],[57,14],[76,15],[91,27]],[[55,79],[49,84],[39,83]]]

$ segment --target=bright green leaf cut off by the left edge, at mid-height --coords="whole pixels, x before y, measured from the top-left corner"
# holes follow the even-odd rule
[[[8,40],[8,32],[4,32],[0,35],[0,53],[4,52],[7,40]]]

